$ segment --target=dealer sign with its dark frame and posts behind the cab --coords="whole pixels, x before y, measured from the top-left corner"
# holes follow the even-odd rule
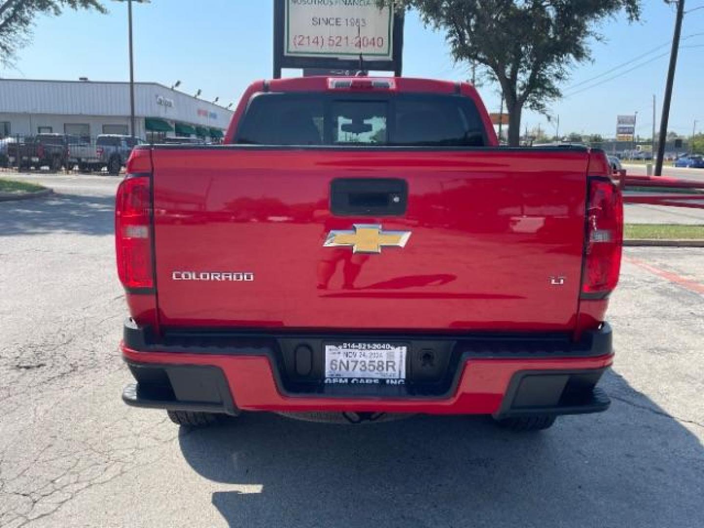
[[[403,13],[375,0],[274,0],[274,78],[282,68],[403,70]]]

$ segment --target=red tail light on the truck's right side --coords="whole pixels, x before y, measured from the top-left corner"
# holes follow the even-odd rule
[[[621,270],[623,199],[605,177],[589,180],[582,297],[601,298],[615,289]]]

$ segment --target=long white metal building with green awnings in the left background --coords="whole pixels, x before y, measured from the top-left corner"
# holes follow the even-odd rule
[[[156,82],[134,83],[135,134],[156,141],[220,139],[232,112]],[[58,132],[80,137],[128,134],[127,82],[0,79],[0,137]]]

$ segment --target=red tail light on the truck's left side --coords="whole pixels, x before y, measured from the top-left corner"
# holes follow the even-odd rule
[[[122,286],[134,293],[153,289],[149,175],[128,175],[118,187],[115,203],[115,251]]]

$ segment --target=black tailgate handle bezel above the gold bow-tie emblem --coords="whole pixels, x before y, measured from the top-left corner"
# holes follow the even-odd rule
[[[330,184],[334,215],[399,216],[408,207],[408,183],[398,178],[337,178]]]

